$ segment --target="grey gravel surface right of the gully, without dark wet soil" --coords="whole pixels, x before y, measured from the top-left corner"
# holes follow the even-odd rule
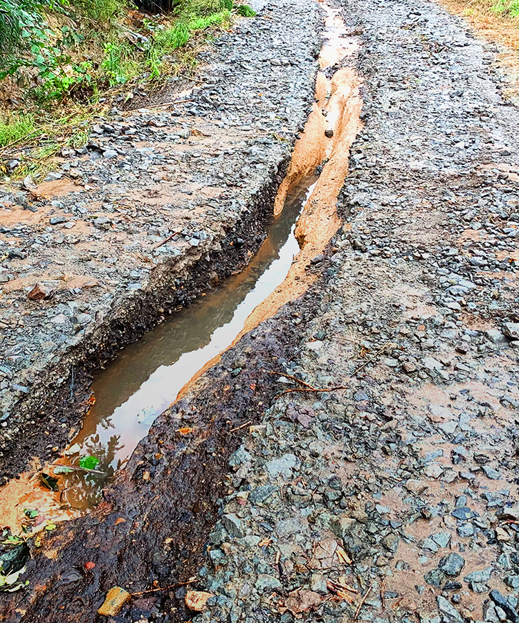
[[[231,456],[195,620],[516,621],[519,113],[435,3],[344,12],[365,129],[278,370],[347,389],[278,398]]]

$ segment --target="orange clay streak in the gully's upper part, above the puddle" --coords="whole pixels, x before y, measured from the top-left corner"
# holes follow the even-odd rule
[[[327,26],[345,29],[344,22],[335,15],[334,10],[327,5],[323,6],[327,12]],[[340,55],[338,59],[331,55],[329,45],[326,45],[323,48],[326,58],[323,60],[321,55],[319,59],[321,69],[328,66],[329,59],[337,62],[356,50],[356,44],[345,43],[344,38],[340,39],[333,32],[330,34],[329,42],[340,46]],[[274,214],[278,215],[283,209],[289,190],[325,161],[316,186],[295,228],[295,237],[301,251],[295,256],[284,282],[248,316],[242,332],[230,347],[263,320],[274,316],[282,305],[301,296],[315,280],[314,276],[307,275],[307,267],[311,260],[325,249],[340,226],[336,210],[337,197],[348,173],[349,150],[362,128],[360,114],[363,102],[360,85],[358,75],[351,68],[340,69],[331,80],[327,80],[322,71],[317,75],[318,101],[313,104],[301,138],[295,142],[289,170],[274,201]],[[333,136],[327,138],[326,130],[331,130]],[[203,372],[215,365],[220,357],[221,354],[206,363],[180,390],[177,399],[185,395]]]

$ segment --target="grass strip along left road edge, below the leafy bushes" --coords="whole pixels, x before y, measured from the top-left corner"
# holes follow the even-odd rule
[[[114,103],[124,104],[134,89],[160,91],[171,76],[192,75],[201,46],[233,22],[233,0],[183,0],[174,14],[145,17],[137,30],[122,20],[125,0],[73,3],[84,4],[93,27],[75,33],[62,65],[46,67],[39,84],[26,88],[24,112],[2,110],[0,102],[0,181],[28,174],[36,180],[44,177],[63,147],[88,143],[93,116],[102,116]],[[234,12],[242,15],[242,6]],[[255,15],[248,7],[245,13]],[[103,27],[96,28],[95,20],[104,20]],[[48,21],[63,27],[59,19]],[[89,60],[80,60],[85,57]],[[32,68],[33,76],[36,70]],[[6,75],[4,80],[13,78]],[[15,172],[6,167],[10,159],[21,161]]]

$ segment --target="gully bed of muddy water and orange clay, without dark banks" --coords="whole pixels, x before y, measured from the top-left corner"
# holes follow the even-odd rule
[[[295,143],[260,250],[244,271],[125,347],[98,374],[92,386],[95,402],[82,429],[57,461],[59,467],[45,467],[57,479],[58,490],[42,488],[37,466],[11,481],[0,490],[0,507],[8,509],[1,525],[16,530],[26,521],[27,509],[37,511],[42,525],[93,509],[107,480],[179,392],[245,332],[311,284],[307,267],[340,226],[336,200],[347,175],[349,149],[361,129],[362,107],[356,72],[340,66],[358,44],[347,36],[338,12],[323,2],[320,6],[326,30],[316,102]],[[74,471],[63,473],[66,466]]]

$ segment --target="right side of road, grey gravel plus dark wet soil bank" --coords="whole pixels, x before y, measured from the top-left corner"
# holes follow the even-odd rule
[[[111,587],[190,578],[108,620],[518,620],[519,112],[437,4],[331,6],[364,127],[313,285],[33,550],[3,620],[107,620]],[[288,37],[298,3],[270,7]]]

